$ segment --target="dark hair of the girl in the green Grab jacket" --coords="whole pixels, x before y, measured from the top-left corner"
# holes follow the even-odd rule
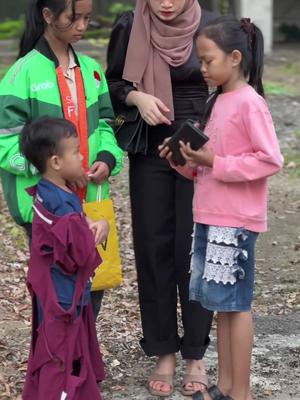
[[[54,17],[58,18],[71,3],[74,21],[76,1],[77,0],[32,0],[26,12],[25,29],[20,41],[18,58],[29,53],[36,45],[39,38],[44,34],[46,26],[43,17],[44,8],[49,8]],[[71,21],[70,26],[73,21]]]

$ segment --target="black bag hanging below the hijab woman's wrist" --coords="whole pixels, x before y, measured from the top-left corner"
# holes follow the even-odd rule
[[[129,154],[146,154],[148,150],[148,125],[137,107],[130,107],[119,114],[115,121],[118,145]]]

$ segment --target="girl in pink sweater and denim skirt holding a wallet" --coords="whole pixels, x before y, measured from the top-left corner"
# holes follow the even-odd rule
[[[217,87],[207,104],[208,144],[180,142],[186,160],[176,167],[194,180],[195,222],[190,300],[218,311],[218,386],[193,399],[251,400],[255,242],[267,229],[267,178],[280,153],[263,98],[263,36],[250,21],[221,17],[197,39],[201,72]],[[170,162],[165,145],[161,156]]]

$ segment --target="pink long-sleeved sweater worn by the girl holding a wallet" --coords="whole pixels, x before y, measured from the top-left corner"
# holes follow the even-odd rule
[[[205,132],[213,168],[176,168],[194,179],[194,221],[266,231],[267,177],[283,157],[265,100],[249,85],[219,95]]]

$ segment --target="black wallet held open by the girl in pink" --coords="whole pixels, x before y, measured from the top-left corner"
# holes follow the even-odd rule
[[[191,119],[186,120],[174,133],[166,146],[172,151],[172,161],[175,165],[184,165],[185,159],[180,153],[179,141],[183,143],[190,143],[193,150],[198,150],[207,141],[208,137],[195,125],[195,122]]]

